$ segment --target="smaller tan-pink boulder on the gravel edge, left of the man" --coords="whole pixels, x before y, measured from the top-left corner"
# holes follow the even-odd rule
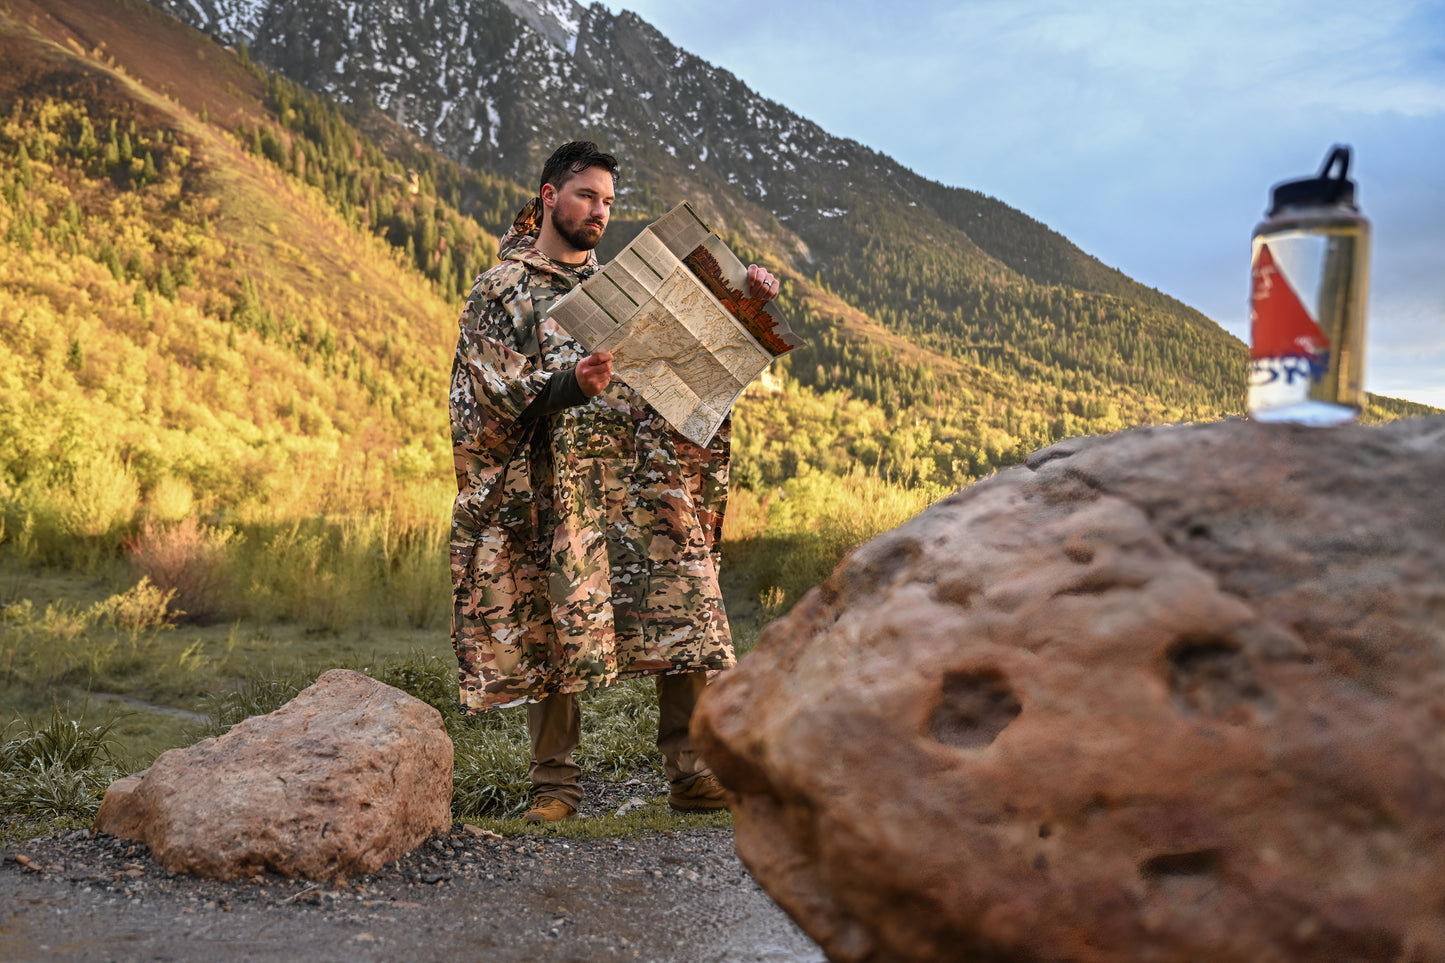
[[[449,827],[451,791],[441,713],[331,669],[269,716],[117,781],[95,830],[146,843],[173,872],[338,879]]]

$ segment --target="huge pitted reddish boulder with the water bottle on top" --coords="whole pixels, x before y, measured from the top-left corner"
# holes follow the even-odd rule
[[[1445,418],[1053,445],[694,730],[834,960],[1445,960]]]

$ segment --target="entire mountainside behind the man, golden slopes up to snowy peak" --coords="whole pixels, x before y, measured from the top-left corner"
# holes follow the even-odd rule
[[[0,25],[14,519],[97,471],[118,496],[184,483],[212,515],[445,487],[460,301],[572,136],[624,160],[613,250],[688,198],[785,278],[809,344],[738,402],[740,487],[958,484],[1065,435],[1240,408],[1244,348],[1218,325],[631,14],[10,0]]]

